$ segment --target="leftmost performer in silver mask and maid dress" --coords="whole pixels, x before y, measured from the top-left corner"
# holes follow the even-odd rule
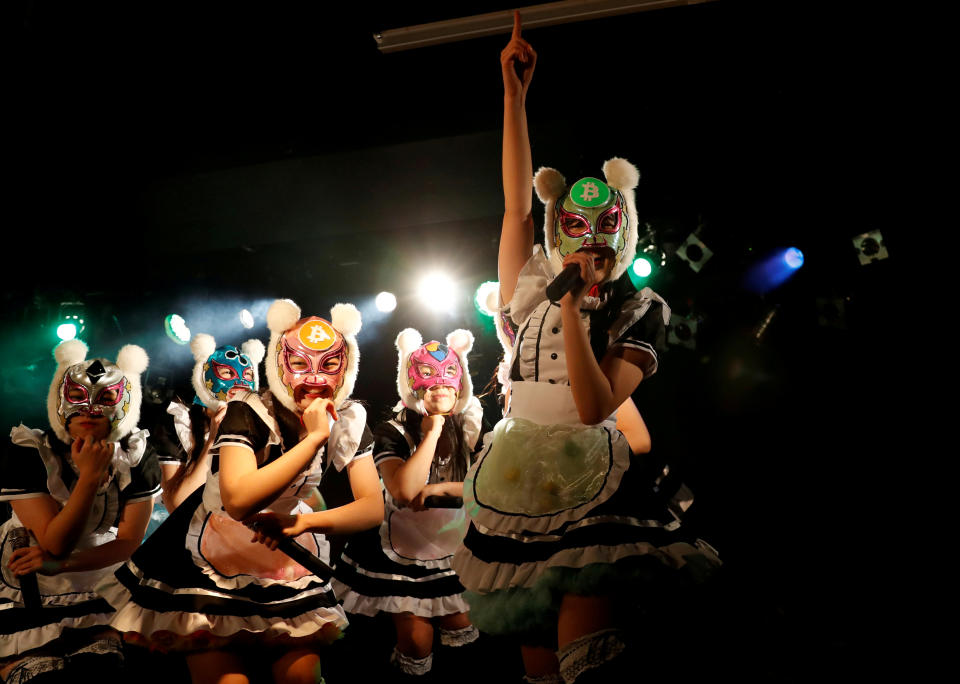
[[[80,340],[56,348],[50,429],[15,427],[0,462],[0,501],[13,509],[0,528],[5,682],[94,672],[111,680],[122,663],[119,635],[108,626],[113,609],[94,586],[140,544],[160,495],[148,433],[137,429],[148,359],[136,345],[123,347],[116,363],[86,354]],[[29,546],[19,550],[17,528],[29,530]],[[31,579],[39,607],[30,605]]]

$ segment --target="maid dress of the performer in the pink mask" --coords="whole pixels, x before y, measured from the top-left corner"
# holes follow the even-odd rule
[[[410,409],[374,430],[374,461],[406,461],[422,441],[422,416]],[[480,435],[483,409],[476,397],[444,422],[427,484],[462,482]],[[459,431],[462,441],[453,439]],[[461,448],[457,449],[456,444]],[[430,618],[470,610],[463,586],[450,568],[466,529],[463,508],[413,511],[384,491],[379,528],[355,535],[336,566],[334,589],[348,613],[413,613]]]

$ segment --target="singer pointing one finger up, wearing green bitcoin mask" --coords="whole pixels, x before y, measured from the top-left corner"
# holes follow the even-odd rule
[[[625,275],[636,167],[611,159],[605,180],[568,184],[548,168],[534,178],[526,96],[537,55],[519,15],[500,61],[500,304],[517,334],[509,409],[464,481],[471,523],[453,569],[480,631],[520,642],[528,681],[621,681],[629,615],[617,609],[637,605],[642,580],[703,565],[694,556],[716,562],[683,538],[616,428],[617,408],[657,370],[670,311]],[[534,250],[534,186],[546,254]],[[564,271],[577,277],[548,294]]]

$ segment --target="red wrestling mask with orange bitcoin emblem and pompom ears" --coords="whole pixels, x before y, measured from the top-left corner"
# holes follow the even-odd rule
[[[360,312],[353,304],[337,304],[330,320],[301,318],[300,307],[278,299],[267,311],[270,347],[267,385],[291,411],[302,413],[302,398],[325,397],[339,409],[350,398],[360,366]]]

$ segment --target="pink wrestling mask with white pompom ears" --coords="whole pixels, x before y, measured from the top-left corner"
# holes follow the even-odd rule
[[[473,396],[473,383],[467,367],[467,354],[473,349],[473,333],[458,329],[447,335],[447,343],[436,340],[423,344],[413,328],[397,335],[397,390],[400,401],[409,409],[424,414],[423,396],[436,385],[452,387],[457,392],[453,413],[463,411]]]

